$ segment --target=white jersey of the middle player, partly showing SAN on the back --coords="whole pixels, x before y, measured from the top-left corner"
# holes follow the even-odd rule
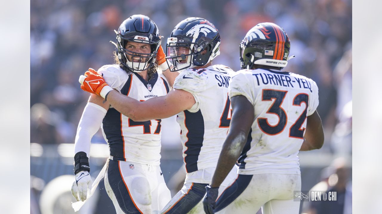
[[[231,120],[228,84],[233,71],[224,65],[183,70],[173,88],[193,94],[196,104],[178,113],[186,171],[215,168]]]

